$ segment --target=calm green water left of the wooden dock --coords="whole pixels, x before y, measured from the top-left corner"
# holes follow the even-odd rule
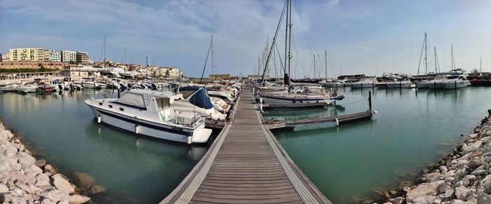
[[[0,117],[40,158],[65,175],[83,172],[106,189],[99,203],[158,203],[206,153],[97,124],[83,103],[93,91],[0,93]],[[97,93],[100,95],[100,93]],[[114,93],[109,93],[113,95]],[[102,195],[102,196],[101,196]]]

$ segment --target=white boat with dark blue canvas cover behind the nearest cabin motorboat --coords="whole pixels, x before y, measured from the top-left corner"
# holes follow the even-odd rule
[[[178,89],[182,94],[180,99],[174,101],[174,109],[182,112],[196,112],[213,120],[224,120],[227,115],[220,113],[208,96],[206,88],[198,86],[186,86]]]

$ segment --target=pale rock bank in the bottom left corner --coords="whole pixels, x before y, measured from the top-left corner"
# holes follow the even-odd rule
[[[0,203],[87,203],[76,186],[0,123]]]

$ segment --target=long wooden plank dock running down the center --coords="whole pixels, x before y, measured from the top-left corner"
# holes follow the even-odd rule
[[[330,203],[262,123],[245,88],[235,117],[161,203]]]

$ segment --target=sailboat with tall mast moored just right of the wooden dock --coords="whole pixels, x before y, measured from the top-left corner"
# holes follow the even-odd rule
[[[321,103],[326,103],[326,104],[331,104],[335,100],[330,100],[330,95],[326,93],[323,89],[318,90],[318,89],[305,89],[302,90],[301,92],[291,91],[291,81],[290,81],[290,69],[291,69],[291,58],[292,58],[292,53],[291,53],[291,44],[292,44],[292,0],[287,0],[285,1],[285,8],[283,11],[286,10],[286,24],[285,24],[285,74],[283,77],[283,86],[288,88],[288,92],[260,92],[259,96],[262,97],[263,101],[267,104],[295,104],[295,103],[310,103],[310,102],[321,102]],[[269,58],[271,57],[271,52],[274,48],[274,45],[276,43],[276,37],[278,36],[278,30],[281,25],[281,20],[283,19],[283,13],[281,15],[280,21],[278,22],[278,27],[276,27],[276,33],[274,35],[273,39],[273,46],[271,46],[269,50],[269,55],[267,55],[266,62],[264,64],[264,72],[262,76],[262,80],[264,81],[264,74],[266,73],[268,64],[269,64]]]

